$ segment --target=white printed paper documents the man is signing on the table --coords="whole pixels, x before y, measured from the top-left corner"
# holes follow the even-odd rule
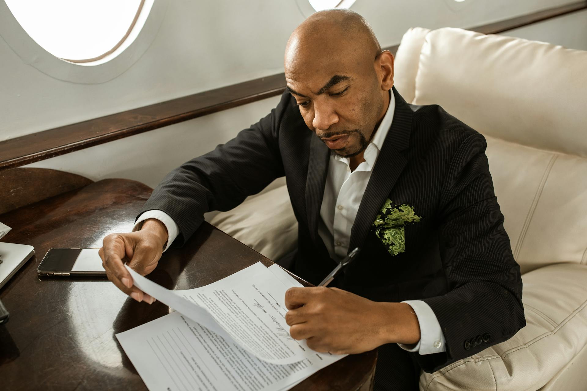
[[[177,291],[130,273],[134,285],[176,310],[116,334],[150,391],[284,390],[345,356],[291,338],[285,291],[302,285],[276,264]]]

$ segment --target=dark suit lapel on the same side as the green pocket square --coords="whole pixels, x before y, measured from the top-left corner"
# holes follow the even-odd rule
[[[350,232],[349,252],[355,247],[363,246],[377,212],[389,196],[407,163],[400,151],[409,146],[413,111],[397,93],[395,87],[393,87],[393,93],[396,98],[396,108],[392,126],[387,132],[375,168],[367,183],[365,195],[359,205],[355,223]]]

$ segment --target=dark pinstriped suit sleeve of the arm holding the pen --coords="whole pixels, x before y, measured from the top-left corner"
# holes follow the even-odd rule
[[[438,242],[448,293],[426,298],[446,352],[415,355],[426,372],[498,344],[524,327],[522,280],[494,195],[487,143],[468,136],[448,165],[438,212]]]

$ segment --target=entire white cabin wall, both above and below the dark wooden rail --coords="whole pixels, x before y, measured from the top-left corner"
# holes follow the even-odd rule
[[[572,2],[357,0],[351,9],[371,23],[382,46],[389,46],[399,43],[411,26],[467,28]],[[285,42],[304,18],[296,0],[169,1],[149,49],[125,73],[101,84],[53,79],[24,64],[0,40],[0,140],[283,72]],[[264,117],[278,100],[268,98],[29,166],[95,181],[135,179],[154,187],[177,165]]]

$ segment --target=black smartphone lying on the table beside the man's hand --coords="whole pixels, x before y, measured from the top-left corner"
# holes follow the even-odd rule
[[[50,249],[39,264],[39,276],[106,276],[99,249]]]

